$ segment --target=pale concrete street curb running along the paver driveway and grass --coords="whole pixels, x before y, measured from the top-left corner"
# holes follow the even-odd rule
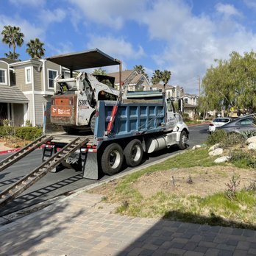
[[[0,231],[6,230],[10,227],[13,227],[15,224],[19,224],[19,223],[23,222],[24,218],[26,220],[29,218],[33,218],[34,216],[37,216],[38,214],[40,214],[40,211],[46,211],[48,207],[53,207],[54,205],[59,205],[61,202],[65,202],[66,200],[72,199],[73,197],[78,196],[80,193],[85,193],[86,191],[90,191],[90,189],[99,187],[100,185],[107,184],[115,179],[121,179],[122,177],[125,177],[129,174],[134,174],[137,171],[142,171],[143,169],[146,169],[150,166],[157,165],[158,163],[163,163],[164,161],[166,161],[170,158],[176,157],[179,154],[184,154],[185,152],[187,152],[187,150],[183,150],[182,152],[177,152],[175,154],[171,154],[168,157],[164,157],[160,160],[156,160],[152,163],[148,163],[144,166],[132,169],[130,171],[125,171],[124,173],[121,173],[121,174],[115,174],[115,176],[104,179],[104,180],[102,180],[102,182],[97,182],[94,184],[86,185],[83,188],[78,188],[77,190],[70,191],[71,195],[65,196],[64,198],[63,198],[63,195],[60,195],[60,196],[54,197],[53,199],[49,199],[44,202],[40,202],[37,205],[32,205],[30,207],[24,208],[15,213],[10,213],[7,216],[2,216],[1,219],[2,219],[3,223],[4,223],[4,221],[8,221],[8,222],[11,221],[11,222],[8,224],[3,224],[2,226],[0,224]],[[49,203],[49,204],[47,204],[47,203]],[[43,207],[43,205],[44,205],[44,207]],[[38,208],[37,211],[33,210],[36,208]],[[30,212],[30,213],[28,213],[28,212]],[[21,216],[22,213],[24,213],[24,216]],[[28,213],[28,214],[26,214],[26,213]],[[17,218],[15,218],[15,216],[17,216]],[[1,219],[0,219],[0,222],[1,222]]]

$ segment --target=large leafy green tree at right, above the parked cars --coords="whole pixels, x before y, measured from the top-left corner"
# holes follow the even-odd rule
[[[229,60],[216,60],[207,69],[202,88],[209,109],[256,109],[256,54],[233,51]]]

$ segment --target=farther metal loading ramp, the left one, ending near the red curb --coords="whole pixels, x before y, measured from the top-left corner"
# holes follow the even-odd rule
[[[0,172],[4,171],[4,169],[6,169],[9,166],[12,166],[21,158],[26,157],[27,154],[29,154],[35,149],[38,149],[39,146],[43,145],[47,141],[51,141],[52,138],[53,136],[43,135],[37,140],[33,141],[32,143],[29,143],[29,145],[25,146],[23,149],[19,150],[18,152],[11,154],[10,157],[7,157],[0,162]]]

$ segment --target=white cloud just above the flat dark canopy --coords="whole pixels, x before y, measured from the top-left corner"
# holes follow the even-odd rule
[[[134,49],[128,40],[124,40],[123,38],[112,38],[110,36],[101,37],[91,35],[90,41],[87,43],[87,48],[101,49],[112,57],[120,58],[120,60],[138,59],[144,54],[141,46],[138,46],[138,49]]]

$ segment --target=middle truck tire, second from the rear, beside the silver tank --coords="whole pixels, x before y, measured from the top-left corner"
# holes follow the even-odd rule
[[[143,157],[143,147],[141,141],[137,139],[130,141],[124,148],[124,157],[127,162],[127,166],[138,166]]]

